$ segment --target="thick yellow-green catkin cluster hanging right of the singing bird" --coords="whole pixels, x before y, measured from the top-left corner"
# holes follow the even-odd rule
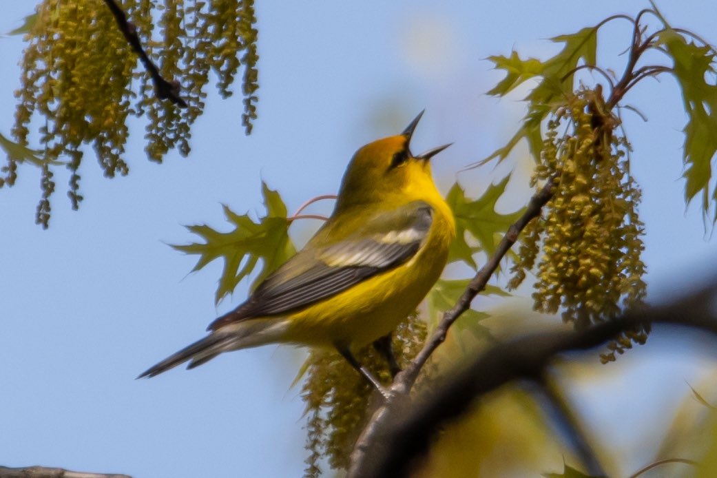
[[[646,292],[640,188],[630,174],[630,143],[606,109],[599,90],[581,89],[549,121],[532,182],[556,178],[554,197],[526,228],[513,267],[511,286],[534,270],[536,310],[561,310],[576,328],[642,306]],[[644,343],[648,332],[625,333],[602,360]]]

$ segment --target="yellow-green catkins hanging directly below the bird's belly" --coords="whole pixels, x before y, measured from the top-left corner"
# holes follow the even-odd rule
[[[426,323],[410,315],[393,334],[394,355],[403,368],[418,353],[427,334]],[[386,359],[373,346],[356,358],[382,383],[391,383]],[[333,469],[345,469],[359,433],[376,405],[376,391],[346,360],[333,350],[313,350],[305,364],[306,380],[301,396],[306,403],[305,477],[321,474],[319,462],[327,459]]]

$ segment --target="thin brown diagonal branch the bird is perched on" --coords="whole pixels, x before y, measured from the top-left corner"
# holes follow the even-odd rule
[[[384,442],[384,440],[381,439],[381,435],[390,429],[390,423],[395,421],[394,417],[399,415],[401,409],[407,406],[408,393],[416,382],[423,365],[430,358],[434,350],[445,341],[448,329],[452,323],[455,322],[463,312],[470,308],[470,302],[473,301],[473,298],[485,289],[485,285],[488,284],[488,280],[493,275],[493,272],[495,272],[495,269],[498,269],[500,261],[518,240],[518,234],[525,229],[528,222],[540,215],[543,206],[553,197],[555,184],[556,178],[551,178],[546,185],[531,198],[523,216],[508,228],[508,232],[505,233],[505,236],[501,239],[493,256],[490,257],[488,262],[475,274],[475,277],[470,281],[470,284],[460,296],[456,305],[448,312],[445,312],[436,330],[427,340],[426,345],[424,345],[406,370],[396,376],[390,388],[392,393],[391,398],[386,400],[384,404],[374,412],[369,424],[366,425],[366,428],[364,428],[364,431],[361,432],[361,436],[359,436],[359,439],[356,441],[353,453],[351,454],[351,467],[348,470],[349,478],[373,476],[366,474],[364,470],[371,467],[371,462],[373,462],[375,458],[374,453],[376,452],[376,447],[380,447],[381,443]],[[369,453],[369,449],[373,451]],[[384,449],[384,454],[388,452],[388,449]]]

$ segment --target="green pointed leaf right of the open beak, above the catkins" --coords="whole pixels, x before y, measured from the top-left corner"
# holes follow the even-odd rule
[[[566,95],[574,90],[572,71],[578,64],[582,61],[583,64],[594,65],[597,61],[597,27],[586,27],[574,34],[560,35],[551,40],[563,43],[564,47],[558,54],[544,62],[535,58],[521,59],[515,51],[510,57],[488,57],[495,65],[495,69],[506,72],[503,80],[488,92],[489,95],[505,96],[526,80],[531,78],[540,78],[540,80],[524,99],[528,102],[528,113],[523,118],[521,128],[505,146],[493,151],[478,165],[495,158],[498,158],[498,162],[503,161],[522,139],[528,141],[528,149],[533,158],[536,161],[540,160],[540,153],[543,150],[541,135],[543,120],[557,107],[564,105]]]

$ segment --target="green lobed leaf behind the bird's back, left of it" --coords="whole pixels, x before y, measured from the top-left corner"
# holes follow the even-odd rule
[[[252,282],[252,289],[296,253],[288,235],[289,221],[286,219],[284,201],[277,191],[272,191],[263,181],[262,196],[267,214],[258,222],[253,221],[248,214],[239,215],[229,209],[229,206],[222,206],[224,215],[229,224],[234,226],[234,230],[219,232],[206,225],[186,226],[189,231],[201,236],[204,243],[171,246],[186,254],[199,255],[192,272],[198,271],[214,259],[224,259],[224,270],[214,295],[216,303],[232,293],[239,281],[254,272],[260,261],[262,265]]]

